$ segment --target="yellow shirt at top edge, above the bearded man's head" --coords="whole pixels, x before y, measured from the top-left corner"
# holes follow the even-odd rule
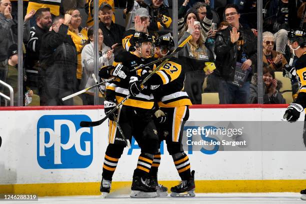
[[[26,13],[31,9],[37,10],[38,8],[50,8],[50,12],[54,15],[59,15],[59,5],[61,0],[28,0]]]

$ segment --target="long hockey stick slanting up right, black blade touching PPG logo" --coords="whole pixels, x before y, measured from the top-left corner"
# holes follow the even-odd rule
[[[180,49],[183,48],[183,46],[187,43],[187,41],[189,41],[189,39],[191,38],[191,34],[185,39],[183,40],[173,51],[172,53],[176,53],[177,51],[179,51]],[[166,58],[163,62],[161,62],[156,68],[154,68],[140,83],[140,87],[142,88],[143,87],[143,83],[145,83],[160,67],[162,67],[170,58]],[[110,112],[108,112],[106,114],[105,117],[103,117],[102,119],[100,120],[97,120],[97,121],[81,121],[80,122],[80,126],[82,127],[89,127],[89,126],[97,126],[97,125],[100,125],[102,124],[102,122],[104,122],[108,116],[110,114],[112,114],[116,109],[118,109],[128,98],[129,98],[129,94],[123,98],[123,100],[121,102],[119,102]]]

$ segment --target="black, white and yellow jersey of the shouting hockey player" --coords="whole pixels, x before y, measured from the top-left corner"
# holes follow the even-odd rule
[[[130,52],[124,51],[120,54],[116,55],[114,58],[114,64],[122,63],[124,66],[128,67],[130,70],[134,69],[140,65],[149,63],[150,61],[154,60],[155,58],[142,58],[138,57]],[[150,68],[150,67],[148,67]],[[140,76],[141,70],[137,70],[133,75]],[[124,97],[129,94],[128,85],[129,79],[116,79],[111,81],[110,83],[106,84],[106,98],[108,99],[112,95],[115,95],[116,102],[121,102]],[[136,96],[130,95],[130,97],[123,103],[123,105],[139,107],[144,109],[151,109],[154,105],[154,97],[149,91],[143,91],[138,93]]]

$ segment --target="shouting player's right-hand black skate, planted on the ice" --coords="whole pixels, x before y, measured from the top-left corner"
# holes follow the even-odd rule
[[[148,179],[143,177],[133,177],[130,197],[149,198],[157,197],[156,188],[149,186]]]

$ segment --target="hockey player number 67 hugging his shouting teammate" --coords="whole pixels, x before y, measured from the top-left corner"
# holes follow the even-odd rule
[[[190,38],[188,36],[188,38]],[[174,42],[170,36],[160,36],[156,39],[155,54],[161,58],[173,50]],[[188,156],[182,149],[182,131],[185,121],[189,117],[188,106],[192,105],[186,92],[183,91],[185,72],[178,59],[171,57],[156,73],[154,73],[144,85],[154,93],[160,110],[155,111],[159,139],[166,140],[167,150],[173,158],[174,165],[181,177],[180,184],[171,187],[171,196],[194,196],[194,171],[190,172]],[[162,114],[166,115],[164,119]],[[157,184],[157,169],[160,162],[160,154],[154,155],[153,165],[150,169],[152,182],[157,191],[161,191]]]

